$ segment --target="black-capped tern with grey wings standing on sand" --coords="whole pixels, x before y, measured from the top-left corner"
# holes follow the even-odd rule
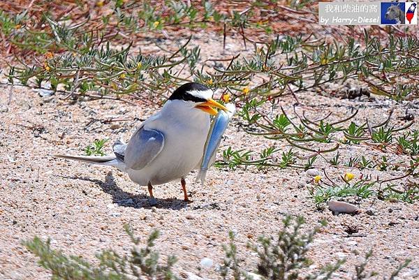
[[[140,186],[148,186],[150,204],[155,204],[153,186],[180,179],[184,200],[186,175],[198,169],[203,159],[210,115],[227,108],[214,101],[214,92],[203,84],[188,82],[177,88],[163,108],[142,122],[128,144],[117,140],[110,156],[56,155],[87,163],[115,166]]]

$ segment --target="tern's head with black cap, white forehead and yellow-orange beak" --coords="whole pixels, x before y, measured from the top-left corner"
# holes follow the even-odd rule
[[[203,110],[210,115],[216,115],[217,111],[214,108],[219,108],[227,111],[227,108],[212,99],[214,92],[198,82],[187,82],[178,87],[169,100],[182,100],[198,103],[195,108]]]

